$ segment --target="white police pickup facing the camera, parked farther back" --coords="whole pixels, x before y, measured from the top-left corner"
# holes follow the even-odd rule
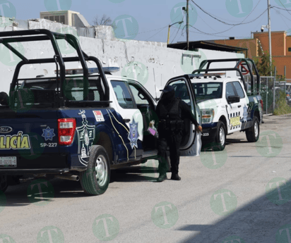
[[[234,68],[210,69],[211,64],[218,63],[221,66],[222,62],[232,62],[236,65]],[[239,69],[242,64],[249,70],[247,73],[251,77],[249,94],[244,75]],[[253,68],[256,79],[252,73]],[[237,72],[239,78],[223,77],[226,73],[218,73],[222,71]],[[189,76],[202,113],[203,146],[223,150],[226,136],[234,132],[246,132],[248,142],[258,141],[263,101],[259,93],[260,75],[254,61],[249,58],[206,60]]]

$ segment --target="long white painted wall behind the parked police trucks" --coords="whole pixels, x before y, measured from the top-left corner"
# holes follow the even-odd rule
[[[40,23],[30,23],[30,28],[37,28]],[[42,27],[44,24],[41,23]],[[66,27],[59,23],[48,23],[45,27],[50,30],[56,31],[59,27]],[[12,27],[6,27],[0,29],[1,31],[12,30]],[[182,51],[177,49],[169,49],[165,47],[164,43],[158,42],[138,42],[138,41],[127,41],[121,42],[119,40],[108,40],[108,39],[93,39],[89,37],[80,37],[81,48],[89,56],[96,56],[100,59],[103,66],[119,66],[121,70],[119,73],[114,75],[124,75],[128,77],[136,77],[141,80],[145,88],[147,88],[153,96],[160,96],[159,90],[162,89],[171,77],[184,75],[185,73],[191,73],[197,69],[201,61],[216,58],[238,58],[244,57],[244,54],[235,54],[223,51],[210,51],[205,49],[199,49],[195,51]],[[12,56],[9,51],[3,45],[0,47],[0,90],[8,92],[9,86],[15,70],[15,65],[11,64],[17,60],[16,56]],[[50,42],[26,42],[18,44],[16,49],[22,49],[27,58],[52,58],[54,51]],[[126,57],[127,49],[127,57]],[[62,45],[61,51],[68,51],[68,46]],[[69,50],[70,51],[70,50]],[[201,58],[194,58],[193,65],[191,58],[184,57],[182,65],[182,54],[194,54],[201,55]],[[76,56],[76,52],[72,54],[64,54],[64,56]],[[12,59],[11,59],[12,58]],[[20,59],[18,59],[20,60]],[[129,61],[138,63],[138,66],[128,65]],[[142,64],[141,64],[142,63]],[[95,67],[93,63],[88,63],[88,67]],[[134,67],[134,68],[133,68]],[[143,70],[146,67],[146,70]],[[66,69],[69,68],[81,68],[81,63],[67,63]],[[122,69],[124,70],[122,71]],[[45,77],[54,76],[55,65],[30,65],[25,66],[20,71],[20,77],[35,77],[36,75],[44,75]],[[135,70],[132,71],[131,70]],[[148,79],[144,80],[141,78],[148,72]]]

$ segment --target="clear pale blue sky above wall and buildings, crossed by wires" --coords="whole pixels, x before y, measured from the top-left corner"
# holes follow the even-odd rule
[[[268,24],[268,0],[190,0],[189,4],[190,41],[250,38],[251,32]],[[271,30],[290,31],[291,35],[291,0],[270,0],[270,4]],[[167,42],[168,26],[184,20],[172,25],[170,43],[186,41],[183,6],[186,0],[0,0],[0,11],[6,17],[16,15],[18,20],[40,18],[41,11],[61,9],[77,11],[93,24],[96,15],[105,14],[115,23],[115,35],[122,39]]]

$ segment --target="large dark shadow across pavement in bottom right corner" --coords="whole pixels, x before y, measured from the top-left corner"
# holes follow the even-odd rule
[[[283,192],[283,188],[281,188],[281,192]],[[291,197],[290,192],[288,193]],[[290,231],[287,231],[288,227],[284,225],[291,224],[290,197],[289,201],[287,199],[285,204],[280,205],[278,189],[274,189],[268,192],[268,197],[266,194],[259,197],[213,225],[184,225],[179,230],[186,230],[193,234],[182,242],[288,243],[290,242],[288,234],[291,235],[291,225],[289,225]],[[277,201],[277,204],[271,202],[274,200]],[[232,236],[237,237],[231,241],[231,238],[228,237]],[[235,238],[240,241],[234,240]]]

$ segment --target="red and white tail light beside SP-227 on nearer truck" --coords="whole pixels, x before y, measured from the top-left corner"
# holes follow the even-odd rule
[[[59,119],[59,145],[71,145],[76,131],[76,120],[73,118]]]

